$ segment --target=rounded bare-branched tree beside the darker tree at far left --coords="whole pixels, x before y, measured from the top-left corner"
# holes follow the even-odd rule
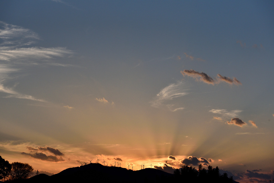
[[[33,174],[33,168],[27,163],[13,162],[11,164],[11,180],[28,179]]]

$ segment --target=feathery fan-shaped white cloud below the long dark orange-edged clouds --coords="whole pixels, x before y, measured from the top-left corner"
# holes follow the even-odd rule
[[[174,107],[173,104],[166,104],[166,102],[173,100],[174,98],[185,96],[188,93],[187,89],[184,88],[183,82],[177,82],[176,84],[170,84],[163,88],[157,95],[156,99],[150,101],[151,106],[158,108],[162,105],[168,107],[171,111],[182,110],[182,107]]]

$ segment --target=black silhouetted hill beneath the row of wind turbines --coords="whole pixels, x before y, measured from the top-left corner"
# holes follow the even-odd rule
[[[26,180],[12,182],[189,182],[182,176],[166,173],[154,168],[143,170],[127,170],[121,167],[106,167],[98,163],[91,163],[80,167],[63,170],[52,176],[39,174]],[[191,181],[193,182],[193,181]],[[233,181],[235,183],[235,181]]]

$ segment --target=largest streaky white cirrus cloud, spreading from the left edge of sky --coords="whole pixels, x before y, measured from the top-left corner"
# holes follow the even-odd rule
[[[0,21],[0,92],[9,94],[6,98],[29,99],[46,102],[34,96],[17,92],[12,87],[7,87],[4,81],[9,80],[15,72],[24,72],[26,67],[39,66],[41,64],[69,66],[67,64],[54,63],[54,58],[65,57],[73,52],[63,47],[42,48],[29,47],[40,40],[38,34],[27,28],[7,24]]]

